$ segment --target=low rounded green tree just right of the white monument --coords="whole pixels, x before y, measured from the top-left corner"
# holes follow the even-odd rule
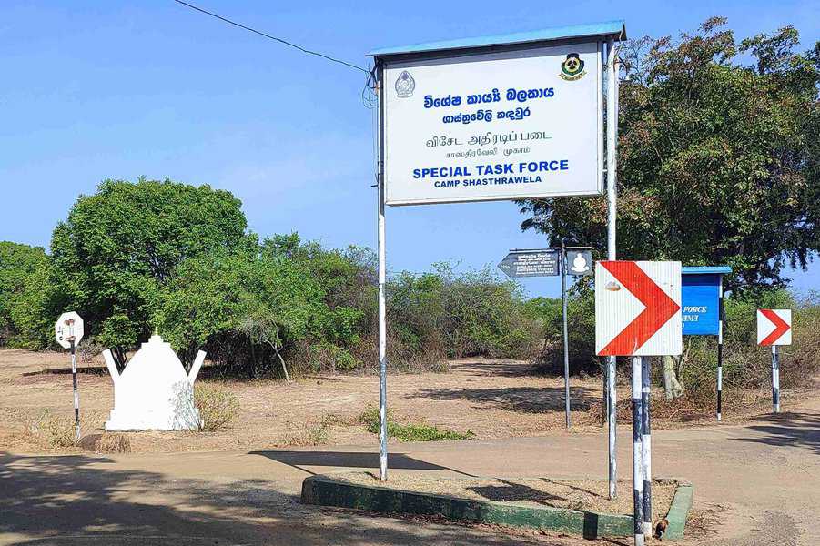
[[[289,258],[217,253],[188,259],[163,290],[157,327],[189,362],[207,347],[212,359],[256,376],[282,351],[321,337],[330,309],[324,292]]]

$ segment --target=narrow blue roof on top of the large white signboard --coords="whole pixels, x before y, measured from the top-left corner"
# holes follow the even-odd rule
[[[452,49],[471,49],[488,45],[513,45],[545,42],[575,37],[612,37],[615,40],[626,39],[626,25],[623,21],[609,21],[606,23],[591,23],[588,25],[569,25],[518,32],[509,35],[479,36],[475,38],[461,38],[429,44],[402,45],[400,47],[385,47],[375,49],[368,56],[408,55],[414,53],[430,53],[432,51],[446,51]]]

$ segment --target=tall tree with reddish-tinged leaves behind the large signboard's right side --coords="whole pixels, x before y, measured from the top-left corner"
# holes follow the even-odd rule
[[[618,256],[726,264],[727,288],[757,291],[785,285],[783,268],[820,248],[820,44],[795,53],[785,27],[737,45],[724,25],[624,48]],[[605,256],[603,197],[521,211],[522,228]]]

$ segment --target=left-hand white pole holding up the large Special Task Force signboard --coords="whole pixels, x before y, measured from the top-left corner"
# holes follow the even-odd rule
[[[384,135],[381,131],[382,116],[384,116],[384,92],[382,89],[382,68],[376,67],[376,93],[379,100],[378,123],[376,129],[378,158],[377,170],[379,187],[378,203],[378,253],[379,253],[379,476],[380,480],[387,480],[387,300],[385,298],[385,283],[387,282],[387,252],[385,250],[385,221],[384,221]]]

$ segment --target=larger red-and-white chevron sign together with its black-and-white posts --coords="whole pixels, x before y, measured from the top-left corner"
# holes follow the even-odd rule
[[[632,359],[635,544],[652,528],[649,368],[643,357],[683,352],[681,263],[602,261],[595,266],[595,352]]]

